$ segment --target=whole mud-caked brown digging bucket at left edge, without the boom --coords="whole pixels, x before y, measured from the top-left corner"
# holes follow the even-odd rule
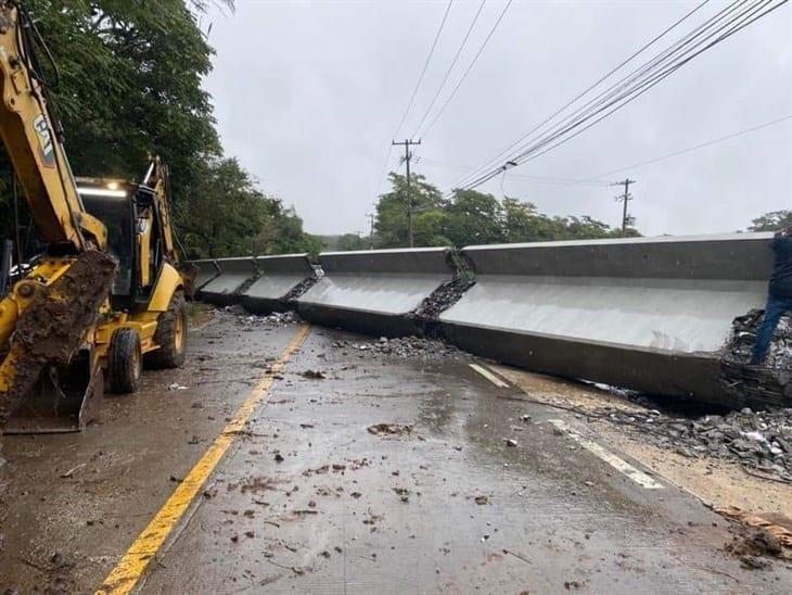
[[[78,431],[94,417],[104,387],[86,340],[116,266],[103,252],[80,254],[20,315],[0,364],[3,433]]]

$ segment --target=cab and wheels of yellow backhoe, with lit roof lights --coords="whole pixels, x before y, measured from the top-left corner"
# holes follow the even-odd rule
[[[135,392],[143,364],[179,367],[187,347],[189,284],[176,268],[167,169],[154,160],[143,183],[77,178],[86,211],[107,228],[107,250],[118,261],[112,313],[97,328],[97,347],[108,388]]]

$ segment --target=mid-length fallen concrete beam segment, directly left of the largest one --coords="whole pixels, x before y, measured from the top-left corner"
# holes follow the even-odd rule
[[[410,316],[454,271],[446,248],[325,252],[324,277],[297,299],[306,320],[370,334],[421,332]]]

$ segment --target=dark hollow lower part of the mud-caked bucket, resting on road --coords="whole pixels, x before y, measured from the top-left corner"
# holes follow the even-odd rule
[[[94,368],[91,370],[91,368]],[[5,434],[79,432],[98,418],[104,395],[102,368],[82,351],[67,367],[50,366],[5,422]]]

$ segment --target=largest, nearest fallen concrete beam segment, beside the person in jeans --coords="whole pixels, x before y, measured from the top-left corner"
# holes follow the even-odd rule
[[[442,329],[531,370],[733,406],[718,351],[733,318],[764,305],[769,237],[469,246],[476,284]]]

